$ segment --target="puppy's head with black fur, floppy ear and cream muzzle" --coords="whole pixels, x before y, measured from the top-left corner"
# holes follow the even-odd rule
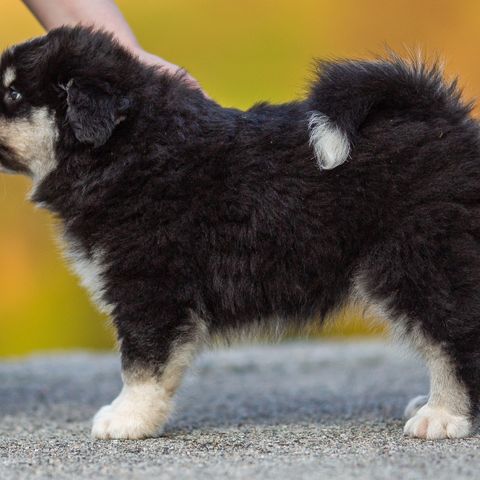
[[[5,51],[0,60],[0,170],[39,180],[59,145],[98,148],[129,115],[143,68],[103,32],[75,27]]]

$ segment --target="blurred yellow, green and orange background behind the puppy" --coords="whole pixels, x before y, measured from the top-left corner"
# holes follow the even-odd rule
[[[79,0],[81,1],[81,0]],[[302,96],[314,57],[368,58],[385,46],[446,60],[467,98],[480,92],[478,0],[119,0],[143,47],[187,68],[225,106]],[[42,34],[20,0],[2,0],[0,48]],[[29,182],[0,176],[0,355],[112,348],[58,253]],[[323,335],[381,334],[348,311]],[[317,332],[316,334],[319,334]]]

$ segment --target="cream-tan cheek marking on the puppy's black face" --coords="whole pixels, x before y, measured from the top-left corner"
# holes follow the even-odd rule
[[[54,114],[46,107],[33,109],[28,118],[0,119],[0,142],[15,153],[37,183],[57,166],[57,138]]]

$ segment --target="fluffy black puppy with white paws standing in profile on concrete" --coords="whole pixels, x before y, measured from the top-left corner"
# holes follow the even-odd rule
[[[322,64],[304,101],[243,112],[105,33],[62,28],[3,54],[0,92],[3,170],[32,177],[118,331],[124,387],[94,437],[155,435],[212,338],[291,330],[350,301],[430,369],[405,434],[469,434],[480,136],[436,67]]]

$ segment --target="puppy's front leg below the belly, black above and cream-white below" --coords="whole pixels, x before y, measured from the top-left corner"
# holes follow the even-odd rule
[[[173,394],[201,346],[204,327],[188,322],[163,323],[162,328],[140,322],[116,323],[121,338],[123,388],[95,415],[92,436],[154,437],[172,410]]]

